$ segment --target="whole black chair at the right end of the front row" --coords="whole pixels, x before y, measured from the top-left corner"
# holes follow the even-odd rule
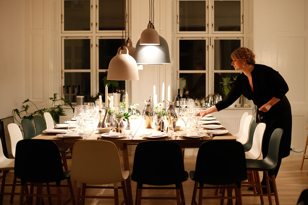
[[[195,171],[190,171],[189,176],[195,181],[192,204],[197,204],[197,189],[199,189],[198,204],[201,205],[202,199],[225,199],[225,189],[234,188],[235,197],[228,196],[228,199],[237,199],[237,204],[241,205],[241,182],[247,179],[243,145],[230,140],[212,140],[202,143],[198,151]],[[205,187],[204,184],[216,186]],[[219,185],[222,186],[219,187]],[[222,196],[203,196],[203,189],[218,188],[223,189]]]

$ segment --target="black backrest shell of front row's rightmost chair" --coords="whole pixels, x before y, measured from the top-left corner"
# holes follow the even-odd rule
[[[200,145],[194,181],[224,185],[247,179],[244,147],[237,141],[211,140]]]

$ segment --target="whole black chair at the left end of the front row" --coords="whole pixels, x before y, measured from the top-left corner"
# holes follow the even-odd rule
[[[42,187],[42,183],[46,183],[44,185],[46,187],[57,187],[56,195],[47,194],[45,196],[56,196],[58,205],[61,204],[60,187],[69,187],[71,198],[66,203],[72,200],[75,205],[70,172],[63,171],[59,149],[54,142],[50,140],[26,139],[17,143],[14,173],[21,180],[20,205],[23,204],[24,196],[30,196],[30,200],[32,200],[33,196],[43,196],[42,193],[33,194],[33,188],[30,189],[30,194],[24,194],[26,182],[37,186],[38,190]],[[64,179],[67,180],[68,185],[60,185],[60,181]],[[56,185],[49,185],[51,182],[55,182]]]

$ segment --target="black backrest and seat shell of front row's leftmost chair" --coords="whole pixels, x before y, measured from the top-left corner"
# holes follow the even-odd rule
[[[14,174],[18,179],[35,183],[65,179],[58,146],[50,140],[19,141],[16,145]]]

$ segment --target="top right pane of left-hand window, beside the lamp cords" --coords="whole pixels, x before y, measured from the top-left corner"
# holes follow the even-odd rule
[[[121,14],[122,14],[122,0],[100,0],[99,30],[122,30]]]

